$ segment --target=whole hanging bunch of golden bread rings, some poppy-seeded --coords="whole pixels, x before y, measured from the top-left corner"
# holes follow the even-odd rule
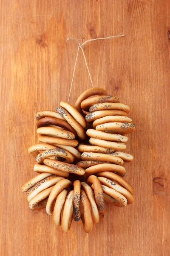
[[[133,156],[122,152],[126,134],[136,128],[129,111],[116,96],[95,87],[82,93],[74,106],[62,101],[57,112],[38,112],[39,143],[28,152],[36,158],[34,171],[39,175],[21,188],[30,209],[46,208],[64,231],[73,219],[81,219],[89,233],[105,201],[117,207],[132,204],[133,188],[123,178],[123,163]]]

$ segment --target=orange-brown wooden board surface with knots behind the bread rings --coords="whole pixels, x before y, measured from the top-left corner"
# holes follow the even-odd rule
[[[1,0],[0,11],[0,255],[170,255],[170,1]],[[35,113],[68,99],[77,44],[84,47],[95,86],[130,106],[137,130],[129,135],[126,180],[135,203],[106,205],[86,235],[68,233],[45,211],[29,210],[21,185],[33,177],[28,147],[37,142]],[[71,103],[91,83],[80,52]]]

